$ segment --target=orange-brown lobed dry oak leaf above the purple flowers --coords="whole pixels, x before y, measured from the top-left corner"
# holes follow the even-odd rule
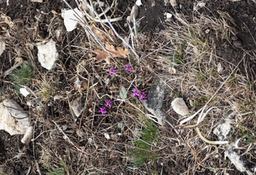
[[[129,54],[129,50],[123,49],[122,47],[115,48],[113,45],[108,43],[105,44],[105,48],[106,50],[108,50],[108,52],[113,58],[116,58],[116,57],[124,58]],[[108,52],[105,52],[104,50],[98,50],[98,49],[94,50],[94,52],[97,54],[97,56],[94,57],[94,60],[97,60],[96,63],[99,63],[105,60],[108,64],[110,64],[111,57],[108,54]]]

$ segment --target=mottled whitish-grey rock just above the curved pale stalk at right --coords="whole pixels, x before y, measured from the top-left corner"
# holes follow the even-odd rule
[[[219,125],[214,129],[214,134],[218,136],[219,141],[228,140],[232,125],[231,120],[235,117],[233,110],[228,111],[219,121]]]

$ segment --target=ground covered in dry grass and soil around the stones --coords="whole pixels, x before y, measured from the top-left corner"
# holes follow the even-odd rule
[[[67,2],[77,7],[75,1]],[[173,7],[160,0],[155,5],[153,0],[142,0],[136,18],[140,23],[138,33],[143,34],[135,39],[139,58],[131,52],[129,57],[114,58],[108,65],[105,61],[95,63],[89,56],[99,45],[89,40],[82,27],[71,32],[65,30],[60,15],[61,9],[68,9],[64,1],[10,0],[7,6],[0,0],[0,15],[10,17],[15,24],[12,28],[3,18],[0,20],[0,36],[7,45],[0,56],[0,74],[10,69],[17,57],[31,61],[35,76],[28,86],[40,98],[40,103],[28,106],[27,101],[35,98],[24,98],[12,77],[1,75],[0,101],[13,98],[29,112],[35,140],[24,145],[20,142],[22,136],[0,131],[0,174],[26,174],[29,169],[30,174],[46,174],[50,166],[60,168],[61,162],[67,165],[64,174],[246,174],[225,158],[225,147],[205,143],[193,127],[178,128],[181,119],[170,107],[173,98],[184,98],[189,112],[194,114],[212,96],[208,105],[217,106],[218,110],[206,117],[201,132],[216,141],[212,131],[222,114],[236,110],[238,117],[233,121],[230,143],[243,137],[241,149],[236,152],[243,155],[247,168],[256,168],[256,4],[205,2],[206,6],[196,11],[195,1],[178,0]],[[115,10],[107,14],[114,12],[112,18],[123,18],[113,23],[123,37],[131,36],[125,19],[134,4],[135,1],[117,0]],[[173,17],[166,20],[165,12]],[[186,24],[178,20],[176,12]],[[37,20],[39,15],[42,17]],[[94,25],[101,28],[99,23]],[[56,30],[61,31],[59,36]],[[50,38],[56,42],[59,59],[56,68],[47,71],[37,61],[36,44]],[[121,46],[120,39],[114,45]],[[222,72],[217,71],[219,63]],[[133,73],[123,71],[128,64],[134,66]],[[116,77],[109,75],[112,66],[118,70]],[[76,77],[83,79],[86,90],[75,90]],[[157,160],[132,168],[129,145],[140,138],[137,133],[142,130],[148,112],[143,101],[132,96],[125,102],[119,101],[119,92],[124,86],[148,93],[157,78],[165,80],[169,87],[163,111],[176,128],[156,124],[159,137],[151,149],[157,152]],[[60,98],[55,99],[56,96]],[[70,109],[75,98],[85,108],[80,117],[75,117]],[[108,114],[99,114],[99,107],[110,99],[114,101],[113,108],[108,108]],[[195,123],[192,120],[190,125]],[[69,139],[64,138],[58,126]]]

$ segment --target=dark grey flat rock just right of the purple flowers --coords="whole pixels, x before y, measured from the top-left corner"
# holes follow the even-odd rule
[[[158,80],[152,85],[148,92],[148,98],[144,101],[144,106],[157,118],[158,123],[163,125],[165,112],[162,111],[162,102],[165,98],[165,82]]]

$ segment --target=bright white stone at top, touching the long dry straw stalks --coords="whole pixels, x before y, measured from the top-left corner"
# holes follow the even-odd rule
[[[63,10],[61,15],[64,18],[64,26],[67,31],[73,31],[77,28],[79,17],[82,18],[83,14],[78,8]]]

